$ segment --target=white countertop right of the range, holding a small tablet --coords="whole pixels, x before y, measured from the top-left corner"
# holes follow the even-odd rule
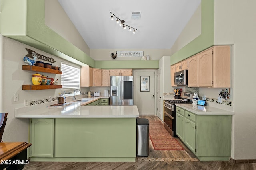
[[[182,109],[186,109],[197,115],[234,115],[234,112],[219,109],[211,106],[198,106],[193,104],[175,104]]]

